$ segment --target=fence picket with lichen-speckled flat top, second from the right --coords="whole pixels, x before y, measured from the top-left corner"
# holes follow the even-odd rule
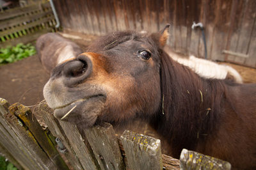
[[[159,139],[125,130],[121,141],[129,169],[163,169]]]

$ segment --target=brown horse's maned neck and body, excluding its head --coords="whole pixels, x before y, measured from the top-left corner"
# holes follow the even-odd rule
[[[173,155],[179,157],[182,148],[187,148],[228,160],[239,169],[253,169],[255,84],[202,79],[164,52],[161,56],[166,114],[160,114],[157,126],[172,141]]]

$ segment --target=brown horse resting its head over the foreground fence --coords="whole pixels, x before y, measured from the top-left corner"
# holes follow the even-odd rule
[[[106,121],[145,120],[183,148],[256,168],[256,84],[205,79],[163,50],[170,25],[157,33],[119,31],[51,72],[44,98],[54,116],[89,128]]]

